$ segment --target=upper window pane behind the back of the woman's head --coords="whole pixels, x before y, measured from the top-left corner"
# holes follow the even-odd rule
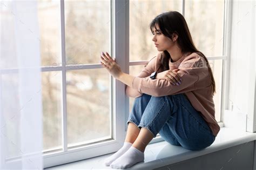
[[[224,0],[185,3],[185,19],[197,49],[207,57],[222,56]]]

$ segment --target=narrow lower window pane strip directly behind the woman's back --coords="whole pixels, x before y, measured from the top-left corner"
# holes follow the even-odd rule
[[[216,93],[213,96],[213,101],[215,104],[215,119],[220,121],[220,113],[221,113],[221,84],[222,84],[222,74],[223,74],[223,60],[208,60],[212,73],[215,80]]]

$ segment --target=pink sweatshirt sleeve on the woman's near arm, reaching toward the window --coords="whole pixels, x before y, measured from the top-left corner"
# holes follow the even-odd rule
[[[196,83],[199,79],[208,76],[207,65],[202,66],[205,60],[203,57],[194,55],[190,58],[185,58],[180,63],[176,71],[181,78],[181,84],[172,85],[170,81],[165,79],[154,79],[150,77],[139,78],[135,77],[132,82],[132,88],[140,93],[149,94],[154,97],[169,96],[197,89]]]

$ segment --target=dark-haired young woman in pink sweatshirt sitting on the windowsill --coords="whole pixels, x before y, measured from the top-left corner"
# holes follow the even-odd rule
[[[194,46],[185,18],[177,11],[161,13],[150,29],[159,52],[139,76],[122,72],[107,52],[100,57],[107,71],[127,85],[127,96],[136,98],[124,145],[105,160],[112,168],[144,161],[145,147],[158,133],[172,145],[199,150],[210,146],[220,130],[212,70]]]

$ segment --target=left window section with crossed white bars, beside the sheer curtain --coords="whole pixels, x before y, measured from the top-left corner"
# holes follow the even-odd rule
[[[113,139],[112,81],[99,63],[111,52],[111,4],[38,1],[44,158]]]

